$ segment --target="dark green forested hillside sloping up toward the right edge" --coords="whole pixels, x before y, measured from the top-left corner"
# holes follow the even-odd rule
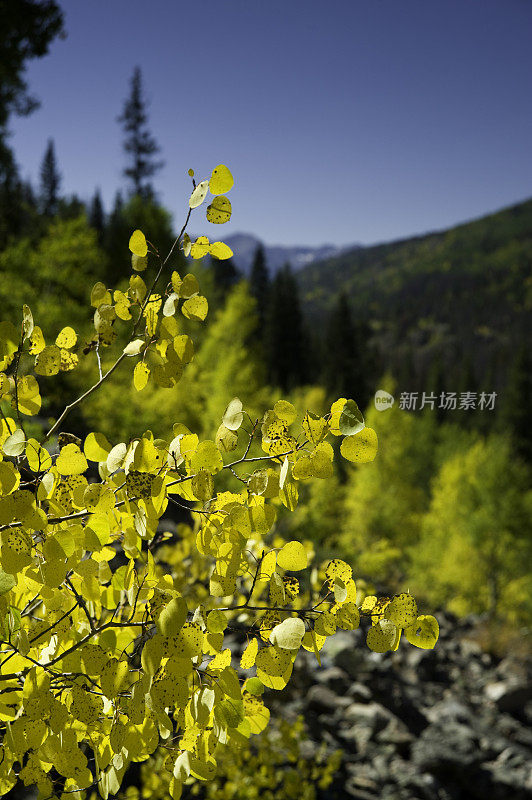
[[[505,386],[532,331],[532,200],[447,231],[356,248],[298,273],[311,319],[345,292],[401,388]]]

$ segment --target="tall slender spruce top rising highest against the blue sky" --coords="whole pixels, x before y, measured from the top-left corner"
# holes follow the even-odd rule
[[[124,169],[124,175],[131,181],[132,194],[145,198],[153,197],[153,187],[149,178],[161,169],[163,162],[154,159],[160,147],[148,129],[140,67],[135,67],[131,79],[131,91],[118,122],[126,134],[124,150],[129,158],[129,165]]]

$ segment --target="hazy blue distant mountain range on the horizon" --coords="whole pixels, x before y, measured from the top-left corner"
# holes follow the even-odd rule
[[[268,245],[249,233],[233,233],[230,236],[224,236],[223,240],[234,253],[233,263],[244,275],[249,274],[255,252],[260,244],[264,247],[266,265],[270,273],[277,272],[286,263],[290,264],[294,272],[298,272],[315,261],[333,258],[347,249],[356,248],[356,245],[340,248],[333,244],[323,244],[319,247]]]

